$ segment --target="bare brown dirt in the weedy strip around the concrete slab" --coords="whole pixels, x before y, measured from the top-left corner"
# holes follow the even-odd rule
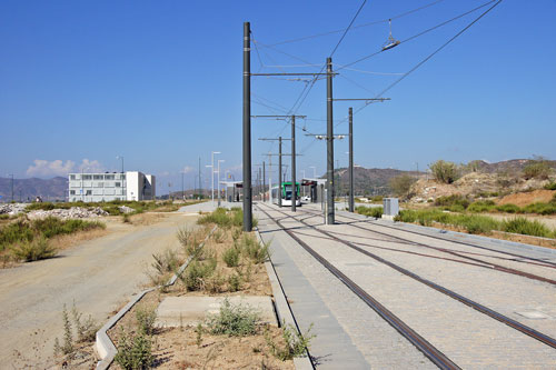
[[[220,231],[218,231],[220,232]],[[218,240],[218,241],[217,241]],[[232,244],[231,231],[210,238],[205,248],[216,253],[218,259],[217,276],[226,280],[237,269],[244,271],[245,278],[239,291],[230,291],[226,282],[218,286],[215,281],[208,283],[203,290],[187,291],[178,282],[166,292],[153,291],[148,293],[136,307],[129,311],[118,324],[109,331],[110,338],[118,343],[121,329],[126,332],[137,328],[136,310],[139,307],[155,309],[166,297],[176,296],[271,296],[271,288],[264,263],[250,263],[241,259],[237,269],[228,268],[221,260],[224,251]],[[208,291],[210,290],[210,291]],[[275,358],[267,338],[284,346],[281,329],[272,326],[259,326],[255,336],[242,338],[214,336],[205,329],[198,336],[197,328],[158,328],[152,337],[155,368],[160,369],[294,369],[294,362],[281,361]],[[118,344],[117,344],[118,346]],[[118,364],[113,364],[119,369]]]

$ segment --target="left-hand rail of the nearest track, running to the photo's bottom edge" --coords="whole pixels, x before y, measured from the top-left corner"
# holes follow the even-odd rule
[[[336,278],[338,278],[346,287],[348,287],[359,299],[361,299],[368,307],[370,307],[378,316],[380,316],[386,322],[388,322],[394,329],[396,329],[404,338],[406,338],[411,344],[414,344],[423,354],[425,354],[433,363],[435,363],[440,369],[460,369],[456,363],[454,363],[446,354],[440,352],[436,347],[428,342],[425,338],[419,336],[415,330],[401,321],[397,316],[389,311],[386,307],[380,304],[376,299],[363,290],[358,284],[356,284],[351,279],[344,274],[340,270],[328,262],[322,256],[317,253],[312,248],[309,247],[305,241],[299,239],[292,230],[286,228],[281,221],[272,218],[267,211],[265,211],[259,204],[257,207],[264,212],[269,219],[274,220],[288,236],[290,236],[296,242],[298,242],[309,254],[311,254],[317,261],[319,261],[328,271],[330,271]],[[269,207],[269,206],[267,206]],[[281,212],[281,211],[280,211]],[[281,212],[284,213],[284,212]],[[304,223],[305,221],[302,221]]]

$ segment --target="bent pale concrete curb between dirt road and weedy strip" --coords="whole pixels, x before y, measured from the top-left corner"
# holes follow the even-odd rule
[[[210,236],[216,231],[217,227],[215,226],[212,230],[208,233],[208,236],[205,238],[205,240],[197,247],[197,249],[201,249],[207,240],[210,238]],[[183,273],[186,268],[189,266],[191,260],[193,259],[192,256],[190,256],[183,264],[178,269],[178,271],[168,280],[168,282],[163,286],[158,286],[155,288],[149,288],[147,290],[141,291],[138,293],[131,301],[128,302],[121,310],[118,311],[113,317],[108,320],[107,323],[102,328],[100,328],[99,331],[97,331],[96,336],[96,342],[95,347],[97,349],[97,352],[99,353],[100,358],[102,359],[97,363],[97,370],[105,370],[108,369],[108,367],[112,363],[113,358],[116,357],[116,353],[118,353],[118,350],[116,349],[116,346],[113,346],[112,341],[108,337],[107,331],[110,330],[131,308],[141,300],[141,298],[145,297],[148,292],[151,292],[153,290],[157,290],[162,287],[169,287],[173,286],[178,277]]]

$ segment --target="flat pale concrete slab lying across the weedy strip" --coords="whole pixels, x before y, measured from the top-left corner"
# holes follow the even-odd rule
[[[157,309],[155,326],[175,328],[179,326],[197,326],[208,314],[220,310],[225,297],[168,297]],[[272,300],[267,296],[228,297],[231,304],[251,307],[260,316],[260,322],[278,326]]]

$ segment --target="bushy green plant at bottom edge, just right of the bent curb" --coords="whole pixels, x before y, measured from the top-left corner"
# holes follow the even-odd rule
[[[150,337],[139,331],[136,334],[127,333],[121,329],[118,353],[115,361],[126,370],[148,369],[155,361]]]

